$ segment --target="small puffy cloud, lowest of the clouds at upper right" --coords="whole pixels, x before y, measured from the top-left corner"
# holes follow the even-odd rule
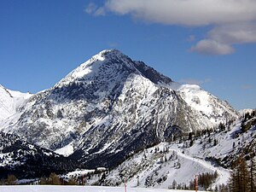
[[[235,52],[228,44],[221,44],[212,39],[203,39],[191,48],[191,51],[203,55],[228,55]]]

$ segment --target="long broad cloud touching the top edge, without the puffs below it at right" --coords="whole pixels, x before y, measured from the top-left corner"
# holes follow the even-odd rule
[[[167,25],[205,26],[256,19],[255,0],[108,0],[119,15]]]

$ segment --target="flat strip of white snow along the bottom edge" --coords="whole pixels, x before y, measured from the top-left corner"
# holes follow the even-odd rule
[[[47,185],[15,185],[0,186],[1,192],[123,192],[119,187],[95,186],[47,186]],[[127,188],[127,192],[188,192],[188,190]]]

